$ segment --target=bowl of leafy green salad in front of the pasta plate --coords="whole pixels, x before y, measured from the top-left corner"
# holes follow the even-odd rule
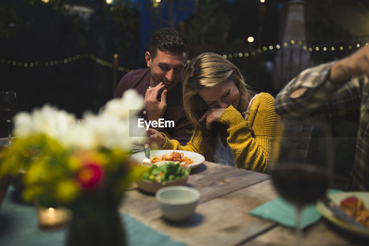
[[[182,168],[179,163],[166,163],[160,167],[151,165],[142,178],[137,180],[138,188],[148,193],[171,185],[186,185],[190,168]]]

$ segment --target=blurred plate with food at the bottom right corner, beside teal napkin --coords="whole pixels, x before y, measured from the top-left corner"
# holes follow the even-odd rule
[[[356,235],[369,237],[369,192],[341,192],[330,194],[328,197],[362,226],[355,226],[337,218],[323,201],[318,200],[316,207],[321,215],[344,230],[355,233]]]

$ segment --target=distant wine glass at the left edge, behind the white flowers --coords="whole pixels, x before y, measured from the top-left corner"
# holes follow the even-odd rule
[[[8,123],[8,141],[1,144],[1,146],[11,146],[10,121],[13,116],[18,113],[18,101],[15,92],[0,92],[0,118],[6,120]]]

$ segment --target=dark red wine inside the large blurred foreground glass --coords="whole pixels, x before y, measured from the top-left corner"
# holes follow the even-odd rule
[[[281,165],[272,172],[279,194],[297,206],[316,202],[327,191],[329,178],[323,168],[308,165]]]

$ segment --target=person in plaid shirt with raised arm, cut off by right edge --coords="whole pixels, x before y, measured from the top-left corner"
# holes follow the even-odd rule
[[[349,189],[369,190],[368,76],[369,45],[366,45],[338,62],[301,72],[279,92],[274,104],[275,111],[284,118],[312,115],[357,122],[355,161]]]

